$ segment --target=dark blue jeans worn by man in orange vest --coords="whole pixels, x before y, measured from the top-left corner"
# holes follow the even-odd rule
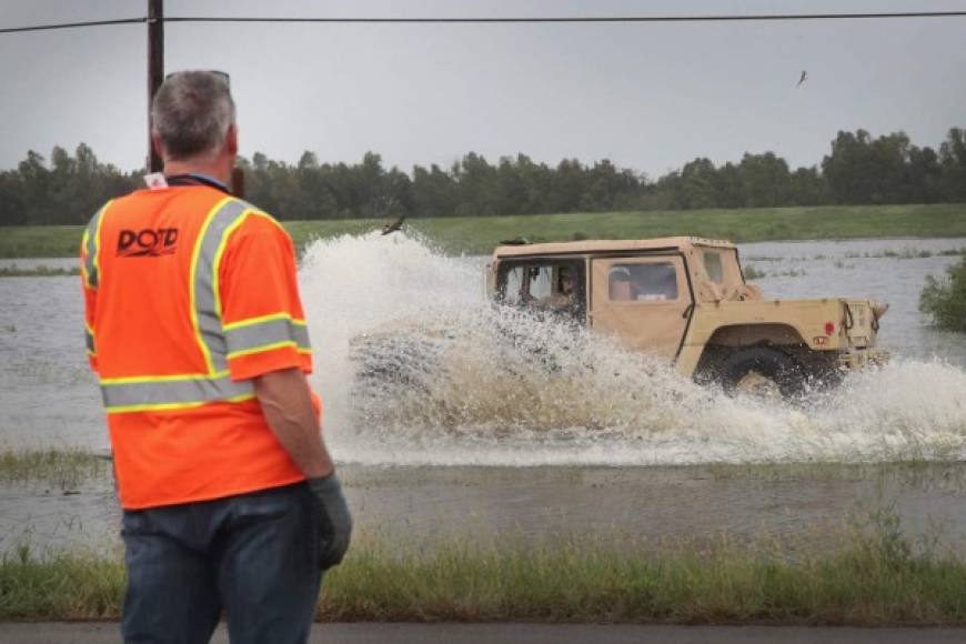
[[[319,596],[318,501],[304,483],[125,511],[124,642],[302,643]]]

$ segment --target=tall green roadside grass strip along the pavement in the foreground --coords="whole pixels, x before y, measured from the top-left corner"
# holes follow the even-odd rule
[[[0,557],[0,620],[117,618],[119,552]],[[325,581],[322,621],[966,623],[966,564],[914,549],[894,514],[822,555],[634,543],[613,534],[420,547],[363,535]]]

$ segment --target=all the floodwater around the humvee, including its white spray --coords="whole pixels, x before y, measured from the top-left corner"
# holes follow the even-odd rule
[[[943,274],[964,246],[743,244],[767,296],[890,304],[879,340],[892,363],[789,405],[729,399],[606,339],[507,318],[484,301],[485,258],[445,258],[403,235],[320,241],[300,278],[326,440],[360,526],[405,539],[617,530],[791,543],[888,506],[910,533],[964,550],[966,339],[930,329],[916,309],[925,276]],[[0,445],[107,450],[78,278],[0,279]],[[507,325],[540,346],[539,360],[506,341]],[[457,348],[457,359],[419,386],[355,388],[350,340],[411,329]],[[910,459],[918,465],[883,465]],[[109,475],[78,491],[0,487],[0,550],[24,536],[110,539]]]

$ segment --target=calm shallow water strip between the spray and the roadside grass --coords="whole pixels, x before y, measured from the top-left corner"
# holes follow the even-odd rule
[[[732,543],[786,552],[832,549],[882,510],[910,542],[966,556],[966,464],[653,467],[384,467],[343,465],[359,534],[426,545],[453,539],[527,543],[586,539]],[[118,543],[110,474],[64,490],[0,486],[0,552],[19,543]]]

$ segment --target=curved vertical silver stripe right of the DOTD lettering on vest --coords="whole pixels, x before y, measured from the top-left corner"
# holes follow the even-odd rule
[[[221,312],[214,295],[214,259],[222,237],[234,221],[251,207],[244,201],[230,200],[212,217],[211,223],[198,241],[200,245],[194,273],[194,312],[201,341],[208,348],[214,371],[228,369],[228,343],[221,329]]]

